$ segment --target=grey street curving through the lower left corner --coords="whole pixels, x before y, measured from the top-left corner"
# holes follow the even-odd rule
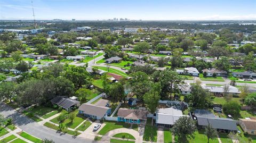
[[[37,138],[52,139],[56,143],[95,142],[81,137],[73,137],[70,134],[59,133],[53,129],[40,125],[2,102],[0,102],[0,114],[3,114],[5,117],[11,117],[17,127]]]

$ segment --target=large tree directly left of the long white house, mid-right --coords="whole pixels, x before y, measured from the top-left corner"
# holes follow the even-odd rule
[[[177,72],[166,69],[159,73],[159,82],[161,82],[162,93],[161,96],[172,95],[173,89],[178,89],[179,86],[185,84],[185,78],[179,75]]]

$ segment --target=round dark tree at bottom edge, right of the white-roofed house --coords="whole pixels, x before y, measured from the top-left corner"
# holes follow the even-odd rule
[[[189,116],[181,116],[171,130],[173,135],[178,137],[179,142],[186,142],[187,138],[194,138],[196,125]]]

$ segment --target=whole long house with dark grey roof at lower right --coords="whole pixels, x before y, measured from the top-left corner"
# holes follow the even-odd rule
[[[191,116],[193,120],[197,121],[197,127],[199,129],[205,129],[207,125],[210,124],[212,128],[216,129],[218,132],[236,133],[238,131],[236,121],[215,116],[207,110],[195,110]]]

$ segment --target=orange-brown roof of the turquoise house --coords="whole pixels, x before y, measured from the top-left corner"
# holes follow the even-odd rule
[[[133,114],[131,114],[133,113]],[[131,110],[131,109],[127,109],[127,108],[119,108],[118,112],[117,112],[117,116],[120,117],[130,117],[129,119],[147,119],[147,114],[148,112],[146,110]],[[133,118],[132,118],[133,117]]]

